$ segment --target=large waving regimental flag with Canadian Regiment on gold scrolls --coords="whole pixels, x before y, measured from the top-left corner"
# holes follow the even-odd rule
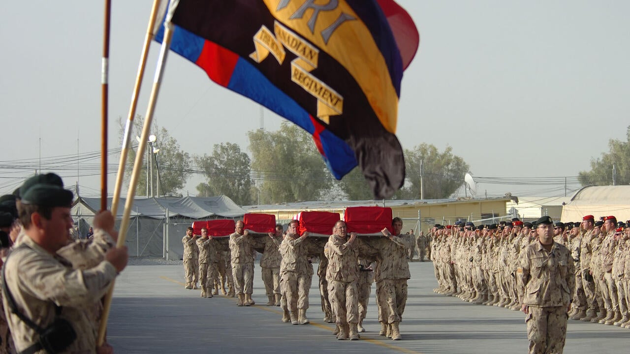
[[[403,185],[398,98],[420,37],[393,0],[171,3],[171,50],[307,130],[335,178],[358,164],[375,198]]]

